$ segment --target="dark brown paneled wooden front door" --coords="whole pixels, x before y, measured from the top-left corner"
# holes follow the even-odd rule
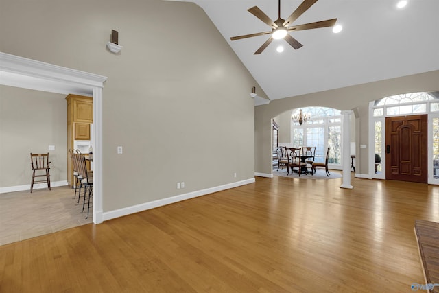
[[[427,115],[385,118],[385,178],[427,183]]]

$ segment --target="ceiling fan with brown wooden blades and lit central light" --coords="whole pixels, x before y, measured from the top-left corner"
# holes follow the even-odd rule
[[[300,15],[302,15],[305,11],[307,11],[314,3],[316,3],[318,0],[305,0],[302,2],[302,4],[299,5],[299,7],[294,10],[294,12],[288,16],[288,18],[281,19],[281,0],[279,1],[279,9],[278,9],[278,19],[276,21],[272,21],[270,17],[267,16],[262,10],[260,10],[257,6],[254,6],[252,8],[249,8],[247,11],[256,16],[258,19],[261,19],[264,23],[270,25],[272,30],[270,32],[257,32],[256,34],[246,34],[244,36],[233,36],[230,38],[230,40],[240,40],[241,38],[251,38],[252,36],[263,36],[264,34],[272,34],[268,40],[265,41],[265,43],[262,44],[257,51],[254,52],[255,55],[261,54],[262,51],[272,43],[273,39],[281,39],[289,43],[294,49],[299,49],[302,47],[302,44],[300,44],[295,38],[293,38],[291,35],[288,34],[290,31],[298,31],[298,30],[311,30],[316,29],[320,27],[332,27],[335,25],[335,22],[337,19],[328,19],[327,21],[317,21],[316,23],[306,23],[304,25],[292,25],[296,19]]]

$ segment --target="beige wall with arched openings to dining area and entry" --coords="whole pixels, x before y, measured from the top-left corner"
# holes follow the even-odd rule
[[[287,109],[302,108],[306,106],[325,106],[340,110],[350,110],[359,107],[360,117],[356,120],[355,132],[356,169],[361,174],[368,173],[368,148],[359,149],[360,144],[368,147],[368,102],[381,97],[388,97],[399,93],[414,93],[418,91],[438,91],[439,71],[431,71],[416,75],[381,80],[357,86],[348,86],[331,91],[322,91],[276,99],[270,104],[257,106],[254,110],[255,128],[255,171],[261,174],[271,174],[270,119],[283,113]],[[354,115],[354,114],[352,114]],[[357,124],[359,124],[357,126]],[[267,140],[268,139],[268,140]]]

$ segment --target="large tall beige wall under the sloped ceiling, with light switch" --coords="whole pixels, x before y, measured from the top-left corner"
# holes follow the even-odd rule
[[[0,51],[108,77],[104,212],[253,178],[257,84],[197,5],[4,0],[0,10]],[[106,49],[112,29],[119,55]]]

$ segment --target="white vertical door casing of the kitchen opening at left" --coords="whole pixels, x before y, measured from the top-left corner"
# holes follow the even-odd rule
[[[93,223],[101,224],[102,215],[102,88],[93,87]]]

